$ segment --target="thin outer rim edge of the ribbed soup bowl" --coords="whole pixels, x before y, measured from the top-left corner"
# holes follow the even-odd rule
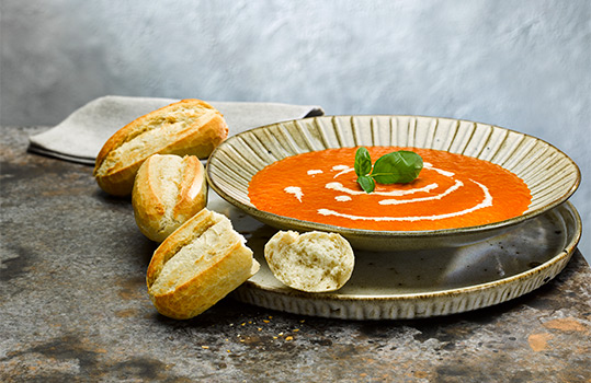
[[[302,120],[309,120],[309,119],[331,119],[332,120],[332,119],[336,119],[336,118],[355,118],[355,117],[363,117],[363,118],[367,118],[367,117],[370,117],[370,118],[372,118],[372,117],[388,117],[388,118],[407,117],[407,118],[447,119],[447,120],[454,120],[454,121],[469,123],[469,124],[474,124],[475,126],[486,125],[486,126],[490,126],[490,127],[493,127],[493,128],[500,128],[500,129],[503,129],[503,130],[505,130],[508,132],[514,132],[514,134],[521,135],[523,137],[541,141],[544,144],[547,144],[549,148],[552,148],[552,150],[554,150],[557,153],[561,154],[573,166],[573,169],[576,171],[576,179],[572,183],[572,186],[568,190],[566,190],[566,193],[564,193],[560,197],[555,198],[552,202],[546,204],[544,206],[541,206],[537,209],[531,210],[531,211],[529,211],[526,213],[523,213],[521,216],[513,217],[513,218],[510,218],[510,219],[507,219],[507,220],[497,221],[497,222],[490,222],[490,223],[479,224],[479,225],[464,227],[464,228],[448,228],[448,229],[436,229],[436,230],[411,230],[411,231],[386,231],[386,230],[368,230],[368,229],[343,228],[343,227],[332,225],[332,224],[327,224],[327,223],[318,223],[318,222],[312,222],[312,221],[299,220],[299,219],[296,219],[296,218],[291,218],[291,217],[286,217],[286,216],[280,216],[280,214],[275,214],[275,213],[272,213],[272,212],[269,212],[269,211],[260,210],[257,207],[246,205],[242,201],[240,201],[240,200],[234,198],[232,196],[230,196],[229,194],[227,194],[224,190],[223,187],[220,187],[219,185],[217,185],[215,183],[215,176],[212,177],[212,171],[211,171],[212,167],[209,166],[209,164],[211,164],[212,160],[214,160],[214,161],[216,160],[217,152],[221,151],[221,148],[224,146],[230,144],[230,142],[232,140],[239,139],[242,136],[250,135],[250,134],[252,134],[253,131],[257,131],[257,130],[270,129],[271,127],[275,127],[275,126],[279,126],[279,125],[282,125],[282,124],[291,124],[291,123],[293,124],[293,123],[302,121]],[[340,148],[344,148],[344,147],[340,147]],[[309,152],[311,152],[311,151],[309,151]],[[466,155],[466,154],[463,154],[463,155]],[[482,160],[482,161],[486,161],[486,160]],[[501,127],[501,126],[498,126],[498,125],[492,125],[492,124],[487,124],[487,123],[479,123],[479,121],[464,119],[464,118],[435,117],[435,116],[428,116],[428,115],[406,115],[406,114],[402,114],[402,115],[397,115],[397,114],[393,114],[393,115],[390,115],[390,114],[354,114],[354,115],[310,116],[310,117],[304,117],[304,118],[287,119],[287,120],[283,120],[283,121],[277,121],[277,123],[273,123],[273,124],[259,126],[259,127],[251,128],[251,129],[248,129],[248,130],[245,130],[245,131],[240,131],[240,132],[238,132],[236,135],[232,135],[232,136],[228,137],[226,140],[224,140],[219,146],[217,146],[212,151],[212,153],[209,154],[209,156],[207,159],[207,163],[206,163],[206,166],[205,166],[205,175],[206,175],[206,178],[207,178],[208,186],[212,187],[214,189],[214,192],[216,192],[221,198],[226,199],[227,201],[229,201],[230,204],[232,204],[235,206],[238,206],[240,209],[247,211],[247,213],[249,213],[249,214],[251,214],[253,217],[263,218],[263,219],[266,218],[266,219],[270,219],[270,220],[272,219],[274,221],[279,221],[279,222],[282,222],[282,223],[284,222],[284,223],[286,223],[286,224],[284,224],[286,227],[287,225],[288,227],[298,227],[298,228],[306,228],[306,230],[319,230],[319,231],[326,231],[326,232],[339,232],[339,233],[343,233],[345,235],[353,235],[353,236],[372,235],[374,237],[382,237],[382,239],[397,239],[397,237],[412,239],[412,237],[424,237],[424,236],[446,237],[446,236],[456,236],[458,234],[468,235],[468,234],[475,234],[475,233],[485,233],[487,231],[496,231],[496,230],[503,229],[503,228],[510,228],[510,227],[520,224],[520,223],[522,223],[524,221],[527,221],[527,220],[530,220],[530,219],[532,219],[534,217],[537,217],[537,216],[539,216],[539,214],[542,214],[542,213],[544,213],[544,212],[546,212],[548,210],[552,210],[553,208],[559,206],[560,204],[564,204],[565,201],[567,201],[575,194],[575,192],[577,192],[577,189],[579,188],[579,185],[581,183],[581,171],[580,171],[579,166],[577,165],[577,163],[570,156],[568,156],[564,151],[561,151],[560,149],[558,149],[554,144],[552,144],[552,143],[549,143],[549,142],[541,139],[541,138],[537,138],[535,136],[524,134],[524,132],[518,131],[515,129],[504,128],[504,127]]]

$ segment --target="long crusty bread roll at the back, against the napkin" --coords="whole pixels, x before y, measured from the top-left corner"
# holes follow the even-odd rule
[[[228,136],[224,116],[200,100],[183,100],[135,119],[103,146],[94,165],[99,186],[109,194],[132,193],[137,170],[150,155],[208,156]]]

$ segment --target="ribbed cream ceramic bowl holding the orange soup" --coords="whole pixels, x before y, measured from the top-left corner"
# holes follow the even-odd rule
[[[477,227],[373,231],[302,221],[257,209],[252,176],[275,161],[329,148],[395,146],[459,153],[496,163],[522,178],[532,202],[521,216]],[[440,117],[321,116],[254,128],[228,138],[207,161],[213,190],[255,219],[281,230],[337,232],[357,249],[408,251],[463,246],[502,234],[566,201],[580,184],[577,164],[552,144],[514,130]]]

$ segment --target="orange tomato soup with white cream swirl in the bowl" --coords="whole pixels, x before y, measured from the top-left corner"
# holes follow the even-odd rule
[[[250,201],[260,210],[342,228],[417,231],[465,228],[522,214],[530,189],[488,161],[445,151],[368,147],[372,161],[396,150],[423,159],[409,184],[365,193],[353,169],[357,148],[327,149],[277,161],[254,175]]]

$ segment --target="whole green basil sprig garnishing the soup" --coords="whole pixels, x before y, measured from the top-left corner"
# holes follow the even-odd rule
[[[361,147],[355,153],[354,169],[361,188],[372,193],[375,183],[408,184],[414,181],[423,169],[423,159],[414,152],[399,150],[380,156],[372,166],[370,152]]]

